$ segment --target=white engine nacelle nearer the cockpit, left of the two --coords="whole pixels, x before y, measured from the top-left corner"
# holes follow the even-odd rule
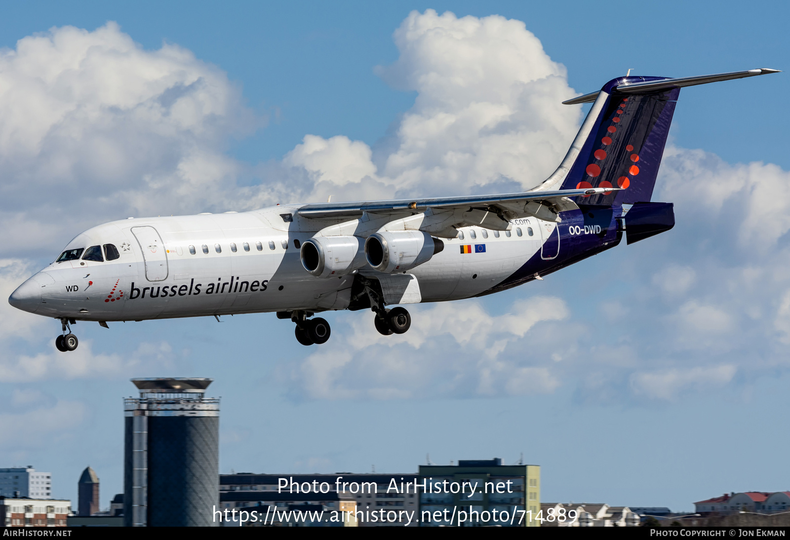
[[[299,258],[316,277],[339,277],[365,266],[364,240],[356,236],[314,236],[303,242]]]

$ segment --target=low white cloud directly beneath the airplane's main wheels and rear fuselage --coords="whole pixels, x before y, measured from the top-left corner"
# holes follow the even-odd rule
[[[502,315],[488,313],[477,301],[420,306],[412,309],[412,328],[401,336],[371,332],[371,317],[355,317],[350,332],[336,334],[333,347],[297,366],[281,366],[280,377],[295,399],[552,392],[559,379],[545,364],[556,365],[557,358],[540,343],[555,341],[556,328],[542,325],[538,332],[536,325],[568,314],[565,302],[552,297],[513,302]],[[521,352],[525,348],[529,354]]]

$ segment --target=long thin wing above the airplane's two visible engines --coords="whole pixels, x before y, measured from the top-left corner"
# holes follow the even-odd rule
[[[619,188],[560,189],[557,191],[537,191],[529,193],[505,193],[498,195],[469,195],[461,197],[439,197],[434,199],[401,199],[398,201],[367,201],[348,203],[306,204],[297,211],[299,216],[310,219],[354,219],[368,212],[372,214],[402,214],[404,212],[425,212],[479,208],[489,212],[501,213],[513,208],[524,208],[530,201],[558,204],[566,197],[597,195],[618,191]],[[570,201],[568,201],[570,202]],[[498,212],[497,212],[498,210]],[[517,212],[518,213],[518,212]]]

